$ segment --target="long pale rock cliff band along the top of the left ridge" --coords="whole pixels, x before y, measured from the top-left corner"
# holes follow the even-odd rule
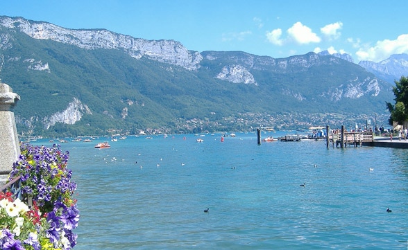
[[[197,69],[202,60],[200,53],[188,51],[180,42],[173,40],[149,41],[113,33],[109,30],[73,30],[19,17],[1,17],[0,25],[26,33],[34,39],[51,39],[86,49],[120,49],[136,59],[147,57],[189,70]],[[0,37],[0,39],[1,44],[8,44],[8,37]]]

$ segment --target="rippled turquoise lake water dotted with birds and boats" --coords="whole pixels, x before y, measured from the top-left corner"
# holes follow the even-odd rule
[[[197,138],[62,144],[78,184],[74,249],[408,248],[407,150]]]

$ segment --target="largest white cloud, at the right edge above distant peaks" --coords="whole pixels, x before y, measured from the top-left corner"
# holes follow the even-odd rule
[[[375,46],[359,48],[356,55],[359,60],[380,62],[390,55],[408,53],[408,34],[400,35],[395,40],[384,39]]]

